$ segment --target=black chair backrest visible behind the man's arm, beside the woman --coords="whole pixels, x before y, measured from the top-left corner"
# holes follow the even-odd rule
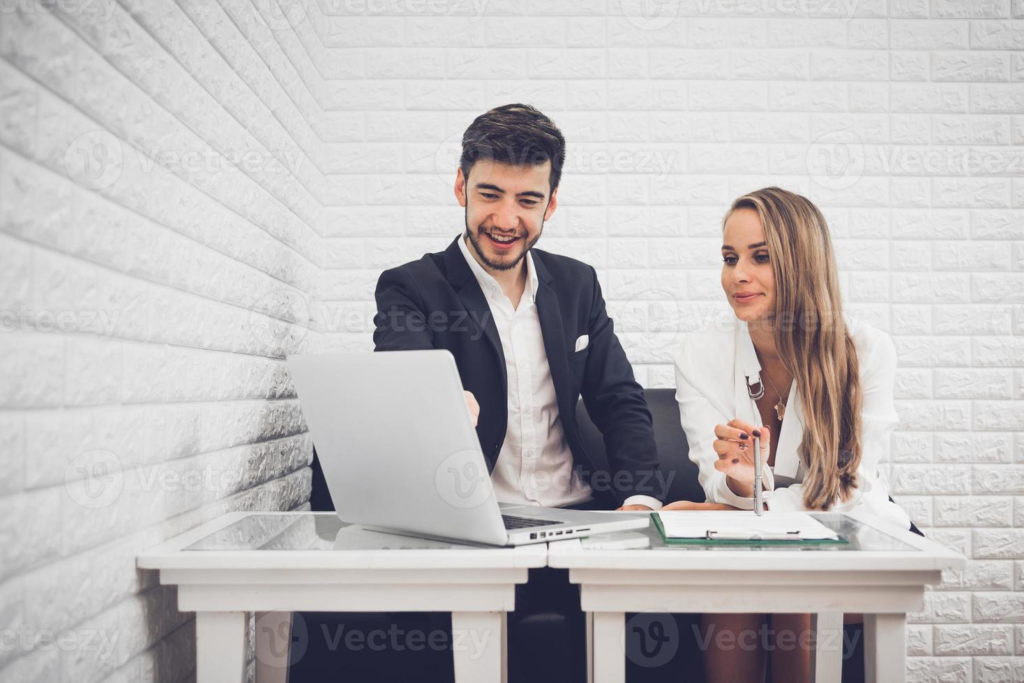
[[[683,431],[683,425],[679,421],[676,390],[648,389],[644,390],[644,396],[654,420],[654,444],[657,447],[658,460],[662,462],[662,476],[665,477],[663,481],[669,482],[666,502],[677,500],[705,502],[703,489],[697,481],[697,466],[690,461],[686,432]],[[607,462],[604,439],[597,426],[590,421],[583,400],[577,403],[577,424],[580,426],[580,438],[587,454],[597,462]],[[709,428],[714,426],[711,425]]]

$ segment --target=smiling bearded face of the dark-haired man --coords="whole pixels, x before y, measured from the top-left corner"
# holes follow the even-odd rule
[[[550,162],[511,166],[480,160],[469,178],[459,169],[455,194],[466,209],[466,233],[474,256],[485,269],[517,267],[541,238],[558,193],[558,188],[550,189]]]

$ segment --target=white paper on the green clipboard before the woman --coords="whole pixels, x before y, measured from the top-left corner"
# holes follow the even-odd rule
[[[657,513],[667,539],[811,541],[839,535],[806,512],[669,510]]]

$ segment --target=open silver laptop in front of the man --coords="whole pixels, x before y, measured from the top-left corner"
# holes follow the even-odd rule
[[[288,369],[345,521],[490,545],[648,525],[646,514],[499,505],[447,351],[297,355]]]

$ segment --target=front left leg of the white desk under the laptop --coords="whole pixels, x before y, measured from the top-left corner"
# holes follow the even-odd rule
[[[196,612],[196,683],[242,683],[246,678],[244,611]]]

